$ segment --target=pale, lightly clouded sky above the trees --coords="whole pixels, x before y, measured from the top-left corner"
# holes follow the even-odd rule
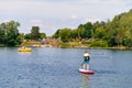
[[[0,23],[20,22],[19,31],[25,34],[40,26],[51,36],[58,29],[112,20],[130,9],[132,0],[0,0]]]

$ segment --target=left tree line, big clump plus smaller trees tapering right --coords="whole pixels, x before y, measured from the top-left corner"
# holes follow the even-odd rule
[[[0,24],[0,46],[16,46],[23,43],[23,40],[42,40],[46,37],[45,33],[40,33],[38,26],[32,26],[31,33],[20,33],[19,22],[10,21]]]

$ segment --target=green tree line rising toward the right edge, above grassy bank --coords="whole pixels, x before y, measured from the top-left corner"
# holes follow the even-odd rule
[[[132,10],[116,15],[111,21],[97,21],[80,24],[77,29],[59,29],[53,37],[59,37],[63,42],[74,40],[101,41],[106,46],[128,46],[132,47]],[[99,44],[99,43],[98,43]]]

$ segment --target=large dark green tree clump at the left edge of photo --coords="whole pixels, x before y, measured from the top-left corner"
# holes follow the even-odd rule
[[[10,21],[0,24],[0,44],[15,46],[21,43],[19,38],[19,22]]]

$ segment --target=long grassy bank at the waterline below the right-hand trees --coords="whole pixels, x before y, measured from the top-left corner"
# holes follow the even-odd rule
[[[96,42],[68,42],[61,43],[62,48],[108,48],[108,50],[132,50],[132,47],[127,46],[108,46],[108,43],[105,41],[96,41]]]

